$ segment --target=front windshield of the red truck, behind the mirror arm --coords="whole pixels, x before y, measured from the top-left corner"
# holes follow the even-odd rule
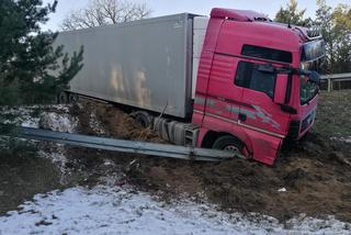
[[[316,70],[317,61],[303,61],[301,68],[303,70]],[[318,86],[308,80],[306,75],[301,75],[299,78],[299,100],[301,104],[308,103],[318,93]]]

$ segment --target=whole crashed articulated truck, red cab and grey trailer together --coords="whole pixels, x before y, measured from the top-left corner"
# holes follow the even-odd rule
[[[215,148],[273,165],[282,144],[313,126],[314,70],[325,55],[316,29],[249,10],[215,8],[59,33],[82,45],[83,68],[59,94],[129,108],[144,126],[183,146]]]

